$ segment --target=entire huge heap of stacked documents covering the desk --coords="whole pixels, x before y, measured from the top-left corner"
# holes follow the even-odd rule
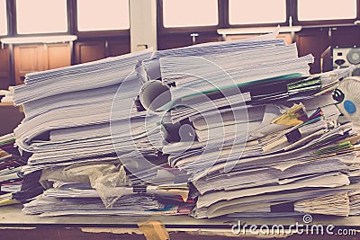
[[[360,135],[332,93],[348,69],[272,34],[29,74],[16,145],[44,191],[27,214],[195,218],[360,212]]]

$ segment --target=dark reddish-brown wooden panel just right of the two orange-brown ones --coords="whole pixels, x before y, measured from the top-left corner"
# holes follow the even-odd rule
[[[103,40],[81,41],[75,44],[76,63],[86,63],[106,57]]]

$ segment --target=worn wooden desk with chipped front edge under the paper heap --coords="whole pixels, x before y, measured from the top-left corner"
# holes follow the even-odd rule
[[[40,240],[40,239],[145,239],[138,224],[147,221],[164,223],[171,239],[258,239],[258,236],[234,235],[231,227],[238,223],[250,225],[283,225],[288,227],[302,218],[213,218],[195,219],[187,216],[161,217],[57,217],[40,218],[23,215],[22,206],[0,208],[0,239]],[[312,225],[329,224],[337,229],[360,230],[360,217],[335,218],[313,217]],[[334,230],[335,232],[335,230]],[[5,237],[6,236],[6,237]],[[341,239],[360,239],[357,236],[342,236]],[[3,238],[4,237],[4,238]],[[264,237],[264,236],[263,236]],[[268,236],[269,237],[269,236]],[[278,236],[279,237],[279,236]],[[338,236],[296,235],[282,236],[286,239],[339,239]],[[270,239],[272,239],[270,237]]]

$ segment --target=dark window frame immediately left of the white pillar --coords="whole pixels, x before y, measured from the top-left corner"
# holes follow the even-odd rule
[[[100,31],[78,31],[77,29],[77,0],[74,0],[72,6],[74,33],[78,38],[82,37],[112,37],[112,36],[130,36],[130,28],[123,30],[100,30]],[[129,21],[130,21],[130,0],[129,0]]]

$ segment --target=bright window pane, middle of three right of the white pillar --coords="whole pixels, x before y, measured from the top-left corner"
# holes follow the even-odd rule
[[[229,0],[230,24],[286,22],[285,0]]]

